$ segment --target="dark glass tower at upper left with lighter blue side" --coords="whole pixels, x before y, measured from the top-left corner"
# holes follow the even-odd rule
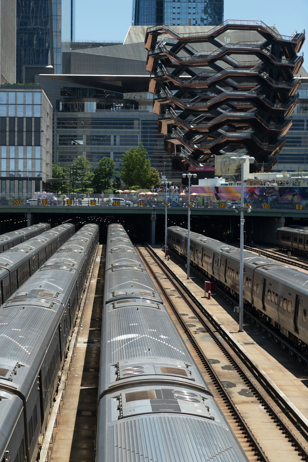
[[[16,82],[37,73],[61,73],[61,52],[75,34],[75,0],[19,0],[16,11]]]

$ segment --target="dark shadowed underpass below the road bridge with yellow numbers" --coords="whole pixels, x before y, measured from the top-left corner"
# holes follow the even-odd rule
[[[213,204],[209,207],[190,207],[191,231],[200,232],[219,240],[238,242],[240,232],[240,213],[232,207],[221,207]],[[169,225],[187,226],[188,208],[182,205],[167,207]],[[244,213],[245,238],[247,242],[274,243],[275,232],[280,226],[307,225],[308,210],[296,210],[295,204],[278,203],[269,208],[252,207],[250,213]],[[165,207],[123,207],[106,205],[57,205],[57,206],[29,206],[29,205],[0,205],[0,234],[10,223],[9,230],[18,229],[19,220],[26,219],[27,225],[49,221],[53,225],[71,221],[84,223],[95,221],[101,226],[101,235],[107,230],[111,222],[125,225],[131,236],[146,239],[154,244],[163,240]],[[11,220],[7,222],[7,220]],[[16,225],[16,226],[15,226]],[[25,224],[24,224],[25,225]],[[15,227],[14,227],[15,226]]]

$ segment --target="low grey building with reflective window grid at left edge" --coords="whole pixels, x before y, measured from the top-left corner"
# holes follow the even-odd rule
[[[52,176],[52,105],[41,85],[1,85],[1,197],[30,198]]]

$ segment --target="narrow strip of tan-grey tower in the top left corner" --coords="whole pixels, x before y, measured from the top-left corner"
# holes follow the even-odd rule
[[[0,83],[15,83],[16,79],[16,3],[0,1]]]

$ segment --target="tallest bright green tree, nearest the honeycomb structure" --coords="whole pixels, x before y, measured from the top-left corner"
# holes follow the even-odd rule
[[[152,186],[153,172],[151,170],[151,161],[141,142],[139,146],[133,146],[129,151],[123,152],[121,178],[127,186],[136,184],[141,188]]]

